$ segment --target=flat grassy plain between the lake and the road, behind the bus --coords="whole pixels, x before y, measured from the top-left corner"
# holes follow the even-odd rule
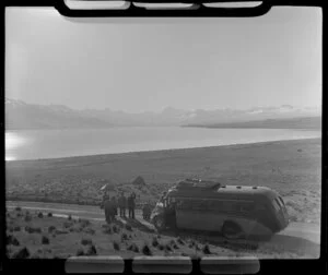
[[[294,220],[320,215],[321,139],[260,142],[5,163],[7,200],[97,204],[99,188],[155,201],[177,180],[266,186],[281,193]],[[145,186],[131,181],[141,176]]]

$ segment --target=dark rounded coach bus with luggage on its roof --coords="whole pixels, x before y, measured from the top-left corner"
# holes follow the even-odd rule
[[[272,236],[288,226],[289,215],[282,198],[269,188],[187,179],[162,196],[151,222],[159,231],[174,227],[239,239]]]

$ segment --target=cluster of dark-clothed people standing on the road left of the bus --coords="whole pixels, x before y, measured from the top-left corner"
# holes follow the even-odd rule
[[[128,216],[129,218],[134,217],[134,208],[136,208],[136,193],[132,192],[128,198],[125,196],[124,192],[120,193],[118,199],[116,196],[112,196],[109,199],[108,193],[106,192],[103,198],[104,208],[105,208],[105,217],[107,223],[112,223],[115,217],[118,215],[119,208],[119,216],[126,216],[126,210],[128,208]]]

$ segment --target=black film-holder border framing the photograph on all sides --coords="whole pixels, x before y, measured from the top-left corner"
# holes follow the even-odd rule
[[[243,0],[235,0],[234,2],[243,2]],[[244,0],[245,1],[245,0]],[[161,0],[149,0],[149,1],[142,1],[142,0],[136,0],[136,2],[186,2],[186,3],[199,3],[199,2],[219,2],[218,1],[211,1],[211,0],[181,0],[181,1],[161,1]],[[229,2],[229,0],[223,0],[221,2]],[[129,10],[119,10],[119,11],[86,11],[82,12],[81,14],[73,12],[72,14],[66,5],[63,5],[62,0],[5,0],[3,5],[3,13],[2,13],[2,20],[1,20],[1,35],[3,37],[3,55],[2,60],[3,61],[3,72],[4,72],[4,14],[5,14],[5,7],[55,7],[58,11],[62,12],[66,16],[188,16],[188,17],[197,17],[197,16],[258,16],[262,15],[266,12],[268,12],[271,8],[271,5],[291,5],[291,7],[318,7],[321,8],[323,12],[323,160],[321,160],[321,248],[320,248],[320,258],[318,260],[260,260],[260,272],[259,274],[281,274],[281,273],[293,273],[293,274],[318,274],[318,273],[325,273],[328,274],[328,264],[327,264],[327,154],[328,148],[326,145],[326,139],[328,136],[327,133],[327,113],[325,109],[326,104],[326,93],[327,93],[327,49],[328,49],[328,43],[327,43],[327,4],[328,1],[309,1],[309,0],[290,0],[290,1],[282,1],[282,0],[270,0],[266,1],[265,4],[262,4],[259,9],[253,10],[253,9],[246,9],[247,11],[243,9],[198,9],[198,10],[187,10],[187,11],[172,11],[172,10],[164,10],[164,11],[145,11],[142,8],[136,8],[132,7]],[[325,50],[326,49],[326,52]],[[0,98],[3,100],[3,111],[1,111],[1,131],[2,131],[2,138],[3,138],[3,146],[1,150],[3,150],[4,155],[4,73],[2,74],[2,82],[1,82],[1,88],[0,88]],[[5,160],[3,158],[3,168],[5,167]],[[3,187],[5,182],[5,174],[3,170]],[[4,240],[5,240],[5,192],[4,188],[0,189],[0,201],[1,201],[1,213],[0,213],[0,226],[2,227],[2,234],[0,236],[0,253],[1,253],[1,260],[0,262],[0,272],[5,273],[43,273],[43,274],[60,274],[65,273],[65,262],[66,260],[8,260],[5,256],[5,247],[4,247]],[[126,260],[126,271],[125,273],[131,273],[131,262],[132,260]],[[199,274],[199,261],[194,261],[194,270],[191,274]],[[201,273],[200,273],[201,274]]]

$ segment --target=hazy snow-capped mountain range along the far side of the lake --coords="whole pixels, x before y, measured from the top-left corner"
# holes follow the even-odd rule
[[[304,120],[304,118],[308,118]],[[298,120],[297,120],[298,119]],[[301,120],[300,120],[301,119]],[[68,129],[68,128],[109,128],[109,127],[251,127],[257,121],[261,128],[271,121],[269,128],[279,128],[285,121],[291,128],[301,122],[302,128],[320,119],[320,109],[297,108],[291,105],[279,107],[256,107],[246,110],[183,110],[167,107],[159,112],[144,111],[129,113],[106,109],[75,110],[63,105],[35,105],[5,98],[5,129]],[[272,124],[272,120],[276,122]],[[262,121],[259,123],[259,121]],[[286,121],[291,121],[286,123]],[[293,122],[294,121],[294,122]],[[297,122],[298,121],[298,122]],[[250,123],[251,122],[251,123]],[[249,124],[250,123],[250,124]],[[316,124],[317,125],[317,124]],[[300,128],[300,127],[298,127]],[[309,127],[309,128],[313,128]]]

